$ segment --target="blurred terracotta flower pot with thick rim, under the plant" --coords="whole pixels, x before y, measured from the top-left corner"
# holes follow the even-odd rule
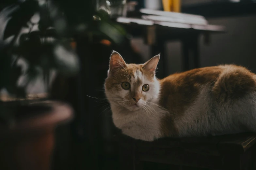
[[[55,101],[36,102],[13,109],[16,123],[0,123],[0,169],[48,170],[56,125],[72,119],[72,109]]]

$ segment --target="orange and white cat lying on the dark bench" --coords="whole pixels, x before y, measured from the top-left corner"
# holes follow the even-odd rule
[[[204,67],[155,77],[160,55],[145,64],[110,58],[105,94],[122,133],[161,137],[256,132],[256,75],[236,65]]]

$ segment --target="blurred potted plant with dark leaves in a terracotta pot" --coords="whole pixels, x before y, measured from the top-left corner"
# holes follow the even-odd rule
[[[65,92],[52,80],[84,70],[83,44],[121,44],[126,33],[93,0],[3,0],[0,23],[0,169],[49,169],[55,127],[72,119],[70,106],[49,100]]]

